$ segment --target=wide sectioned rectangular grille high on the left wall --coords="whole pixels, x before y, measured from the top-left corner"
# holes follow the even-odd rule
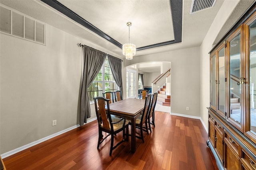
[[[45,45],[45,24],[2,6],[0,21],[1,33]]]

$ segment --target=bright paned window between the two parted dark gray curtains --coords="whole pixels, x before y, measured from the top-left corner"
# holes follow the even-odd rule
[[[110,69],[108,57],[106,57],[105,63],[100,69],[100,72],[87,89],[90,102],[94,101],[94,97],[102,97],[102,93],[115,92],[116,90],[116,82],[114,81],[114,77]]]

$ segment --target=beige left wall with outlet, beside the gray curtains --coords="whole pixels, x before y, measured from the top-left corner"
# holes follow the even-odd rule
[[[46,46],[0,34],[0,154],[79,124],[82,48],[77,43],[114,55],[50,25]]]

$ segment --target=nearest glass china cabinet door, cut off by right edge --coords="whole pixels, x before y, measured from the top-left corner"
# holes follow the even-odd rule
[[[246,94],[249,96],[246,104],[246,136],[256,142],[256,19],[249,21],[245,29],[249,41],[246,53],[246,83],[249,85],[246,88]]]

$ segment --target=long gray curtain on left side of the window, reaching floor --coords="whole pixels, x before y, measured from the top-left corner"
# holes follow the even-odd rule
[[[87,118],[91,117],[90,100],[87,88],[96,78],[100,68],[104,64],[107,54],[84,45],[84,73],[80,102],[80,126],[87,123]]]

